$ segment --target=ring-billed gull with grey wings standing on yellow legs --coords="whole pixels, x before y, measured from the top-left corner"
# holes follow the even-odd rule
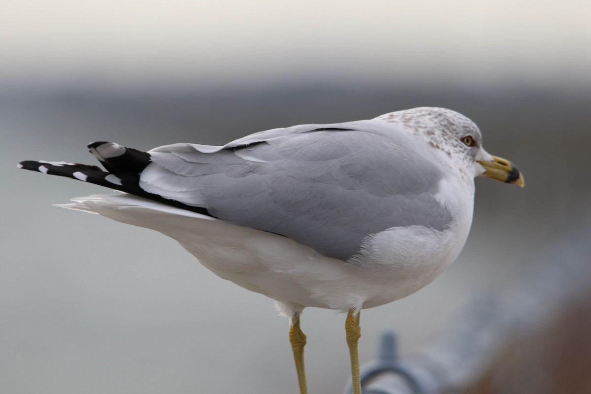
[[[106,171],[47,161],[19,167],[124,192],[65,207],[164,233],[216,275],[274,299],[290,318],[301,394],[305,307],[347,313],[360,394],[359,311],[412,294],[456,259],[476,176],[523,186],[514,165],[482,148],[475,123],[442,108],[271,129],[224,146],[89,149]]]

